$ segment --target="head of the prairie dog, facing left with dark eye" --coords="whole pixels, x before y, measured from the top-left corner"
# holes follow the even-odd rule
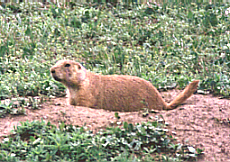
[[[86,69],[78,62],[60,60],[50,68],[52,77],[66,86],[78,86],[86,78]]]

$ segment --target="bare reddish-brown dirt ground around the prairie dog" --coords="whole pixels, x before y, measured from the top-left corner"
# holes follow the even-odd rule
[[[161,92],[170,102],[179,90]],[[93,131],[116,123],[114,112],[86,107],[66,105],[66,98],[56,98],[45,102],[42,109],[26,110],[27,115],[6,116],[0,118],[0,137],[8,135],[19,121],[49,120],[53,124],[65,121],[68,124],[88,126]],[[119,112],[119,121],[137,123],[150,120],[150,117],[162,115],[169,123],[168,129],[180,143],[196,148],[204,148],[205,161],[230,162],[230,100],[219,99],[212,95],[195,94],[175,110],[151,113],[147,117],[142,112]]]

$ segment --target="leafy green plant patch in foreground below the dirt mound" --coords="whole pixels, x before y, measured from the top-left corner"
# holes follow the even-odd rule
[[[1,161],[181,161],[201,149],[176,143],[162,122],[124,123],[93,134],[83,127],[43,120],[23,122],[0,143]],[[154,153],[154,154],[153,154]]]

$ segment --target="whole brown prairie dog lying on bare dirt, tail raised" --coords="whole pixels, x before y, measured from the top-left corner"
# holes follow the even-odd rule
[[[70,60],[58,61],[50,71],[55,80],[67,87],[71,105],[113,111],[175,109],[196,91],[199,83],[193,81],[167,104],[150,82],[135,76],[99,75]]]

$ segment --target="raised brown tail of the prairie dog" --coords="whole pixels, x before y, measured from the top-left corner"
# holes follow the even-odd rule
[[[184,90],[181,92],[176,98],[167,104],[166,110],[172,110],[175,109],[178,105],[183,103],[186,99],[188,99],[196,90],[198,87],[199,80],[195,80],[192,83],[190,83]]]

